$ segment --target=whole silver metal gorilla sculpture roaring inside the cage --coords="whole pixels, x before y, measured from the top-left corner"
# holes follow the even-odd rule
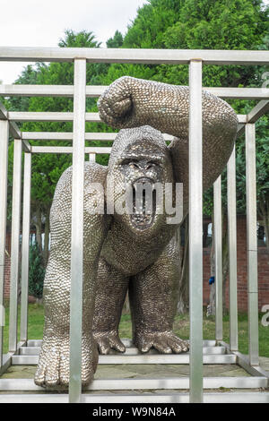
[[[184,86],[132,77],[113,82],[100,97],[101,119],[123,130],[113,144],[108,168],[84,165],[84,252],[82,300],[82,384],[91,381],[100,353],[125,351],[118,322],[129,292],[134,344],[147,352],[182,352],[187,341],[172,332],[177,305],[177,224],[166,215],[97,212],[104,186],[117,201],[126,182],[183,183],[188,206],[188,97]],[[232,108],[203,92],[203,188],[221,174],[233,148],[238,120]],[[177,136],[169,146],[162,133]],[[109,192],[107,179],[117,185]],[[45,328],[35,382],[42,386],[69,382],[69,301],[72,168],[57,186],[50,212],[51,251],[44,284]],[[108,205],[108,203],[107,203]],[[95,305],[95,311],[94,311]]]

